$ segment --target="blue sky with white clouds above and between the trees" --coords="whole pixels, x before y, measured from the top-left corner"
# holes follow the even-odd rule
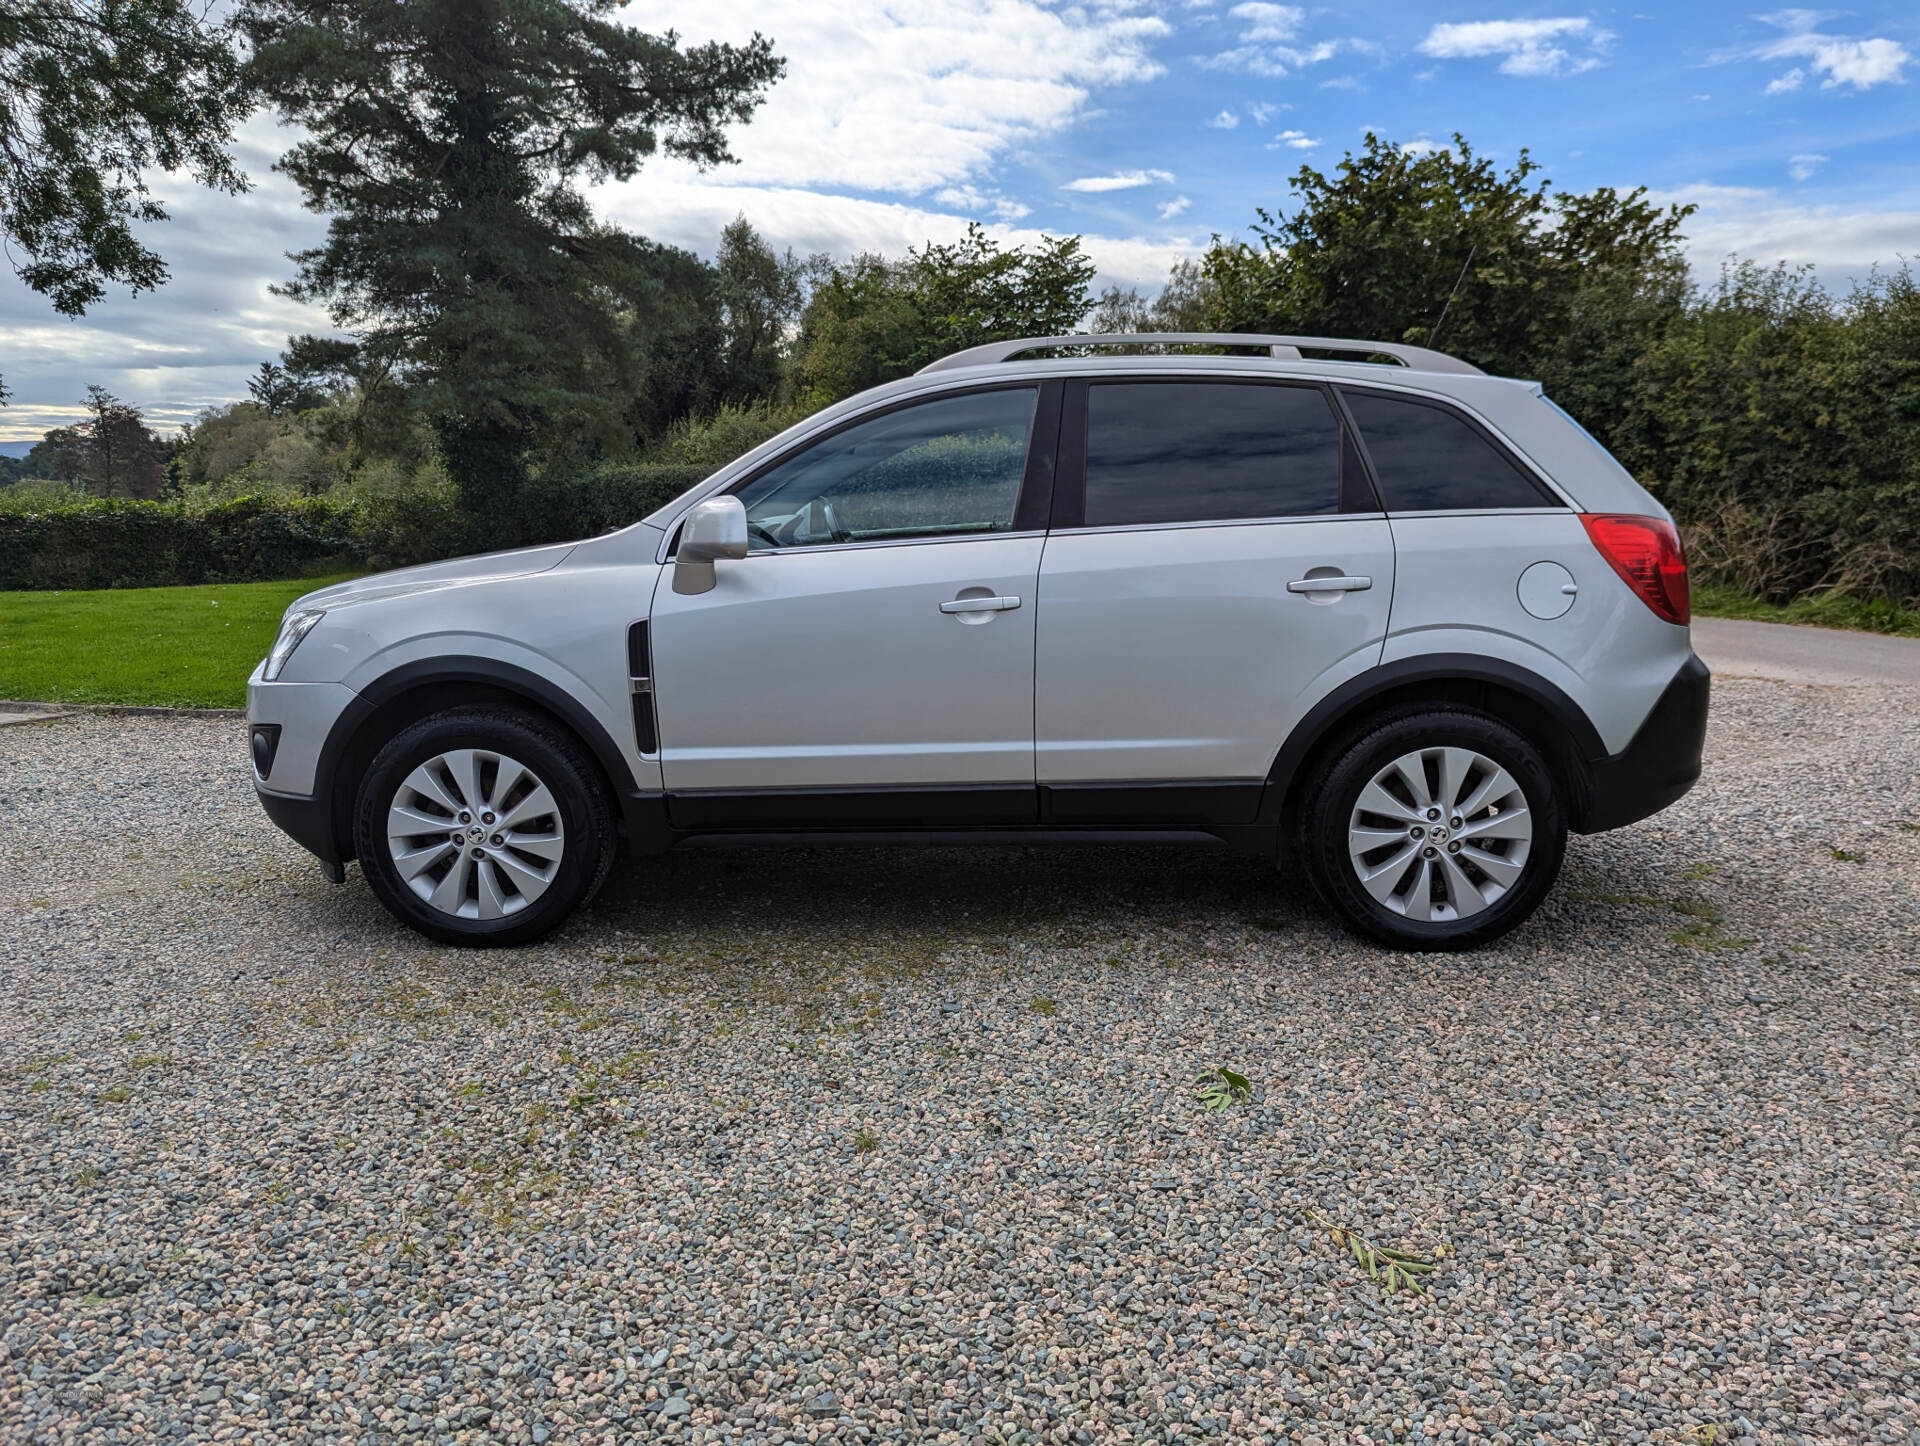
[[[1010,244],[1081,234],[1096,286],[1150,294],[1371,129],[1411,148],[1457,131],[1500,163],[1530,150],[1557,188],[1693,204],[1709,280],[1730,253],[1807,263],[1834,288],[1920,257],[1912,0],[641,0],[622,19],[685,40],[758,31],[787,60],[733,131],[735,165],[653,161],[593,192],[609,221],[703,255],[735,215],[776,248],[839,255],[899,255],[972,219]],[[0,273],[0,442],[71,422],[90,382],[179,426],[244,398],[288,334],[328,330],[271,292],[324,230],[273,171],[288,140],[248,123],[246,196],[159,179],[157,292],[67,321]]]

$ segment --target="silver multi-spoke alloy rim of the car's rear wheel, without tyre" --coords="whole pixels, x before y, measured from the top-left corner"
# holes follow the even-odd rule
[[[1348,856],[1361,887],[1407,918],[1440,924],[1490,908],[1532,853],[1526,793],[1473,749],[1405,753],[1359,791]]]

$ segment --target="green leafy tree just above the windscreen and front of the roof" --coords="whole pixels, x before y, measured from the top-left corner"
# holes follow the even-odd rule
[[[904,261],[820,261],[801,317],[801,386],[826,403],[968,346],[1071,332],[1092,305],[1091,278],[1079,236],[1000,250],[977,225]]]

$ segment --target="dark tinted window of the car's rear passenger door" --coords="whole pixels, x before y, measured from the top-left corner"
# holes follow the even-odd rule
[[[1087,388],[1087,526],[1340,511],[1340,424],[1317,388]]]

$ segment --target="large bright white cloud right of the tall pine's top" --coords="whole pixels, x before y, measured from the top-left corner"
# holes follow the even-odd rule
[[[626,23],[684,42],[762,31],[787,58],[730,182],[929,194],[973,181],[1010,148],[1071,125],[1098,86],[1162,73],[1158,15],[1044,0],[653,0]]]

